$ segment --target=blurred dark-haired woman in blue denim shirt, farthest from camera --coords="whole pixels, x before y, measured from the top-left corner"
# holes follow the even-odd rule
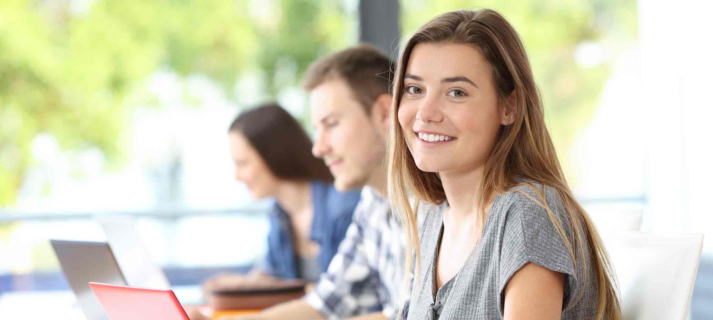
[[[327,270],[352,222],[359,191],[341,193],[332,174],[312,155],[312,141],[276,104],[240,114],[228,129],[235,178],[253,198],[274,198],[265,260],[244,275],[220,275],[206,289],[254,286],[272,279],[316,282]]]

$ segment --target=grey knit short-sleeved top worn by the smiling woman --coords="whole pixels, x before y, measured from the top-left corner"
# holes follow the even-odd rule
[[[542,190],[542,186],[534,186]],[[411,291],[407,311],[409,320],[503,319],[506,284],[528,262],[565,274],[561,319],[593,319],[597,292],[589,256],[584,257],[588,276],[583,296],[576,299],[583,288],[582,267],[575,272],[570,254],[547,210],[519,191],[540,201],[537,193],[528,186],[517,186],[498,195],[483,225],[479,244],[461,270],[438,290],[434,272],[443,212],[448,203],[419,208],[419,215],[426,214],[426,218],[421,229],[421,270],[418,282],[414,283],[417,287]],[[560,196],[554,188],[548,187],[545,188],[545,198],[571,242],[573,235]],[[584,252],[588,252],[586,245]]]

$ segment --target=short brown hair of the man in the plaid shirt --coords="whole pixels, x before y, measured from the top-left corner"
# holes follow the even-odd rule
[[[312,91],[322,83],[343,80],[352,90],[354,99],[371,111],[376,99],[389,93],[395,65],[383,51],[361,44],[330,55],[309,65],[304,76],[304,90]]]

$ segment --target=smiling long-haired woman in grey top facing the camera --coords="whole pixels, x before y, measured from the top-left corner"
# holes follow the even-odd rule
[[[414,276],[408,319],[620,319],[607,251],[506,18],[436,16],[394,79],[388,189]]]

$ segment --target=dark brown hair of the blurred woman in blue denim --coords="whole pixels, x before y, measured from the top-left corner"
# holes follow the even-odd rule
[[[276,103],[242,112],[228,132],[245,136],[277,178],[334,181],[324,161],[312,155],[312,140],[307,132]]]

